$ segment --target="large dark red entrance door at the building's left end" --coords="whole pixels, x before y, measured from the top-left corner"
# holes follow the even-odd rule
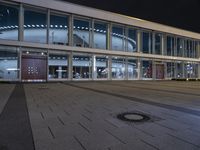
[[[22,54],[22,81],[42,82],[47,80],[47,57]]]

